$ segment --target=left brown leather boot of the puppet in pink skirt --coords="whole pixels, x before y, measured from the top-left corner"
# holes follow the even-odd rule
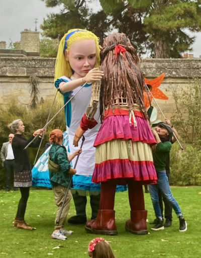
[[[98,210],[97,218],[88,220],[85,230],[92,234],[117,235],[114,210]]]

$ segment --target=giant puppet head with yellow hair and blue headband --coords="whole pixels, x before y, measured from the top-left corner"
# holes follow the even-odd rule
[[[85,67],[83,64],[88,63]],[[83,29],[69,30],[61,39],[56,64],[55,80],[63,75],[80,78],[99,66],[98,38],[90,31]]]

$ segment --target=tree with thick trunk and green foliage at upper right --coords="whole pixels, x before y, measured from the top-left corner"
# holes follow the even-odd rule
[[[120,0],[100,0],[104,11],[112,12]],[[128,0],[134,10],[140,10],[144,16],[143,30],[154,43],[155,58],[180,57],[180,53],[190,50],[194,38],[182,30],[201,30],[201,1],[188,0]]]

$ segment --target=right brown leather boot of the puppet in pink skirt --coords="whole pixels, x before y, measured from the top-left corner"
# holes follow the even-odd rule
[[[131,219],[126,221],[125,229],[133,234],[145,235],[148,234],[147,211],[131,211]]]

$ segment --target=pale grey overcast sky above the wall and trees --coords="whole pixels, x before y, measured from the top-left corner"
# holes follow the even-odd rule
[[[98,0],[97,0],[98,4]],[[58,13],[59,7],[47,8],[41,0],[0,0],[0,41],[6,41],[7,47],[11,40],[20,41],[20,32],[24,29],[35,30],[35,19],[38,19],[37,29],[49,13]],[[126,32],[124,32],[126,33]],[[195,35],[192,45],[194,57],[201,55],[201,32]]]

